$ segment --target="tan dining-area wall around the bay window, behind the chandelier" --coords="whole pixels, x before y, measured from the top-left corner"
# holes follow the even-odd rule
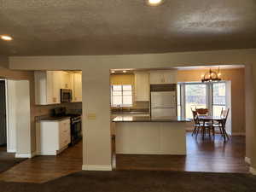
[[[178,82],[200,81],[207,70],[179,70]],[[231,81],[232,135],[245,133],[245,84],[244,68],[221,69],[221,78]]]

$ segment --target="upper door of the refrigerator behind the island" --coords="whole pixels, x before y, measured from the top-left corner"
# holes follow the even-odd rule
[[[176,92],[151,92],[151,108],[176,108]]]

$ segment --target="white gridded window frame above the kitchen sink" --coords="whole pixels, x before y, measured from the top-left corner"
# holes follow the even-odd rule
[[[120,86],[121,90],[113,90],[113,86]],[[131,90],[124,90],[124,86],[131,86]],[[111,91],[111,107],[112,108],[131,108],[133,107],[133,86],[132,84],[111,84],[110,85],[110,91]],[[121,92],[121,99],[122,99],[122,104],[117,105],[117,104],[113,104],[113,92]],[[124,92],[130,92],[131,91],[131,95],[124,95]],[[131,104],[124,104],[124,96],[131,96]]]

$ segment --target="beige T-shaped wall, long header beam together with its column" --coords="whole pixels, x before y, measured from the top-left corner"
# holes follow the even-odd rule
[[[102,165],[110,166],[111,160],[111,151],[109,149],[109,69],[184,67],[220,64],[256,65],[256,49],[147,55],[10,57],[9,61],[9,66],[12,69],[83,71],[84,135],[86,135],[85,139],[90,138],[88,142],[84,140],[84,166],[93,164],[98,165],[100,169]],[[253,75],[256,76],[256,69]],[[96,113],[96,119],[90,119],[91,116],[86,115],[86,113],[90,114],[91,112]],[[256,129],[256,127],[253,126],[251,129]],[[253,146],[254,145],[255,143],[253,143]],[[249,147],[253,148],[253,146]],[[256,168],[256,148],[253,150],[253,154],[255,155],[252,156],[252,161],[255,161],[253,166]]]

